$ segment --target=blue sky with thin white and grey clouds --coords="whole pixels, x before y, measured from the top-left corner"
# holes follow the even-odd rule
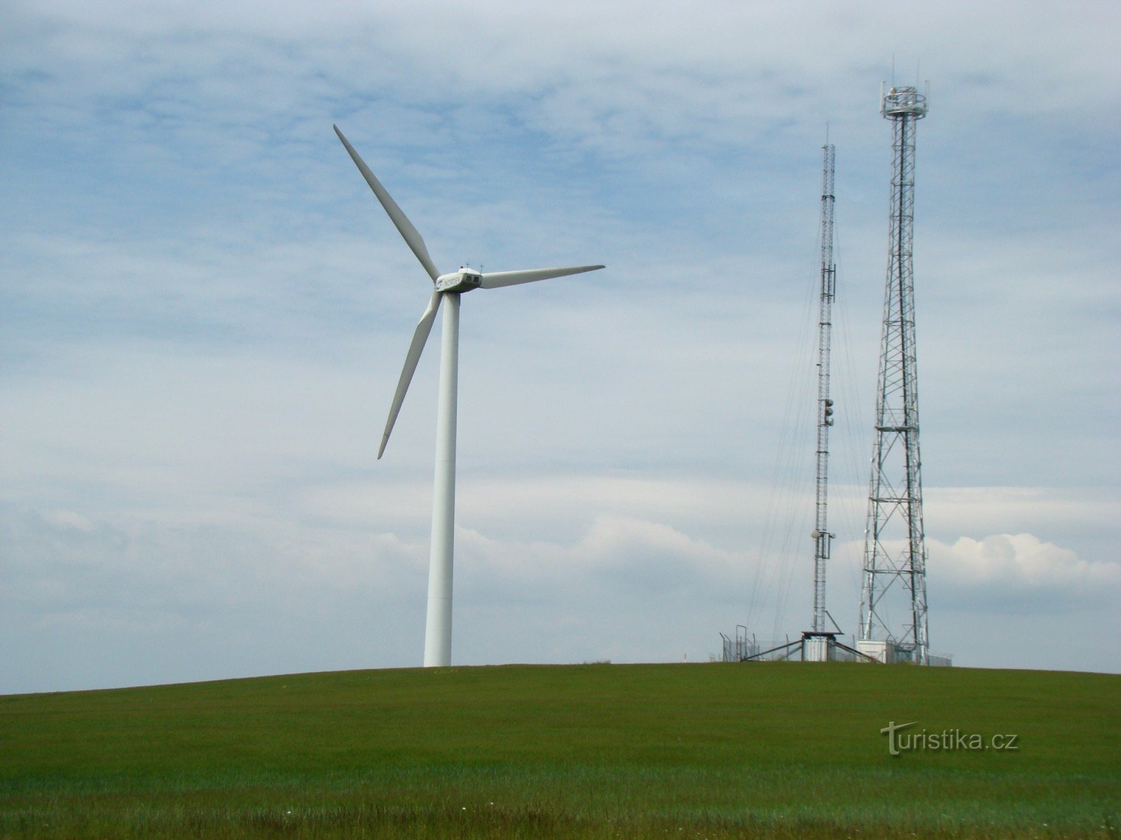
[[[887,269],[881,82],[929,81],[915,286],[929,638],[1121,672],[1121,7],[0,10],[0,693],[419,665],[436,333],[464,296],[455,664],[702,662],[855,628]]]

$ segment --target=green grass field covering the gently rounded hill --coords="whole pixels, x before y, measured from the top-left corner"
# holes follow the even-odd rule
[[[892,757],[889,721],[1015,735],[1017,749]],[[1119,675],[516,665],[0,697],[3,838],[1099,838],[1119,827]]]

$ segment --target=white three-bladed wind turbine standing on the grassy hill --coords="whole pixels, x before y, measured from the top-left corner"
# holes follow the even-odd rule
[[[358,166],[370,189],[378,196],[381,206],[386,208],[389,218],[397,226],[406,244],[416,254],[432,278],[433,292],[428,308],[420,316],[413,342],[405,355],[405,366],[397,382],[397,392],[389,407],[389,419],[386,431],[381,436],[378,448],[380,459],[389,442],[389,433],[393,430],[397,414],[409,390],[409,382],[420,361],[420,353],[428,340],[432,325],[436,320],[439,305],[444,307],[444,326],[441,336],[439,351],[439,402],[436,412],[436,479],[432,502],[432,549],[428,559],[428,618],[425,628],[424,664],[425,668],[452,664],[452,538],[455,529],[455,414],[458,392],[460,366],[460,296],[472,289],[500,289],[504,286],[531,283],[537,280],[548,280],[567,274],[580,274],[584,271],[595,271],[603,265],[574,265],[560,269],[529,269],[527,271],[497,271],[481,273],[471,268],[461,268],[447,274],[441,274],[428,249],[424,244],[417,228],[397,206],[381,181],[370,171],[370,167],[354,151],[337,125],[333,127],[339,139]]]

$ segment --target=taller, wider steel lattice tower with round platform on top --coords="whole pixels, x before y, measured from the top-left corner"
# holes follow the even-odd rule
[[[929,646],[911,243],[915,128],[926,116],[926,101],[915,87],[880,92],[880,113],[893,131],[890,245],[856,643],[883,662],[900,657],[923,665],[929,664]]]

